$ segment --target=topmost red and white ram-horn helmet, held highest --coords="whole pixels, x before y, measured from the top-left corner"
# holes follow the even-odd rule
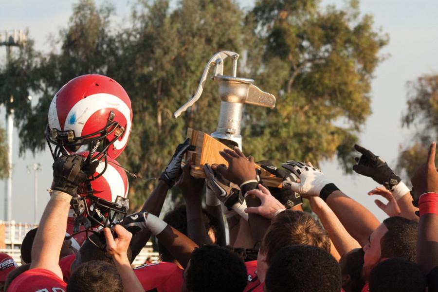
[[[110,77],[89,74],[56,92],[46,137],[54,159],[83,145],[89,146],[93,160],[106,155],[115,159],[128,143],[131,126],[131,101],[123,87]]]

